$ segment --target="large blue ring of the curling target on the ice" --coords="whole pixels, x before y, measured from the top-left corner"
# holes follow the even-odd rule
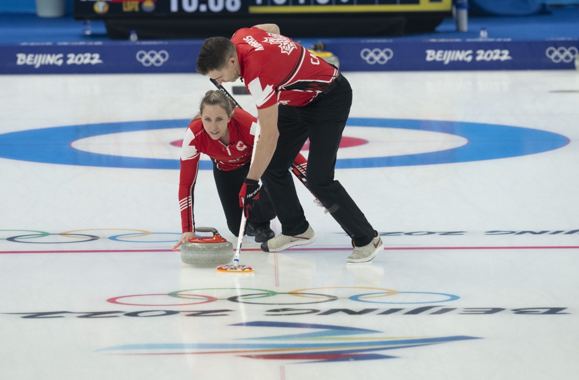
[[[151,120],[73,125],[5,133],[0,134],[0,158],[62,165],[179,169],[179,160],[97,154],[74,149],[71,147],[71,143],[79,138],[101,134],[178,128],[184,127],[188,123],[189,120],[187,119]],[[506,125],[378,118],[350,118],[346,125],[449,133],[466,138],[468,144],[420,154],[338,159],[336,169],[491,160],[547,152],[569,144],[569,138],[560,134]],[[199,169],[212,169],[212,163],[200,161]]]

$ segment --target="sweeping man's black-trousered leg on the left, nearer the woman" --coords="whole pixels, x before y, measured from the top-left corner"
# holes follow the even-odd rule
[[[281,233],[287,236],[299,235],[309,226],[295,191],[294,179],[288,170],[307,140],[307,128],[299,120],[296,108],[299,107],[278,106],[277,128],[280,136],[272,160],[262,176],[263,185],[281,222]]]

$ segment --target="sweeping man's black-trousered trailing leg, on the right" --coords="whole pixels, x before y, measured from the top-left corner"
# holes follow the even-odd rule
[[[365,246],[375,231],[340,182],[334,180],[336,154],[350,113],[352,93],[344,78],[327,96],[301,107],[301,119],[310,136],[307,183],[357,247]]]

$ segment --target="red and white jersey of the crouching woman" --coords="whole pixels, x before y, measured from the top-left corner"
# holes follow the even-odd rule
[[[251,160],[257,119],[243,109],[235,108],[229,127],[229,142],[213,140],[203,128],[201,119],[189,123],[181,148],[179,208],[183,232],[195,231],[193,190],[199,169],[199,155],[210,156],[223,171],[235,170]]]

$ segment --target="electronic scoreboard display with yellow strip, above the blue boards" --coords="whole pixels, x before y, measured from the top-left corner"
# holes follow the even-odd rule
[[[74,0],[76,19],[449,12],[452,0]]]

